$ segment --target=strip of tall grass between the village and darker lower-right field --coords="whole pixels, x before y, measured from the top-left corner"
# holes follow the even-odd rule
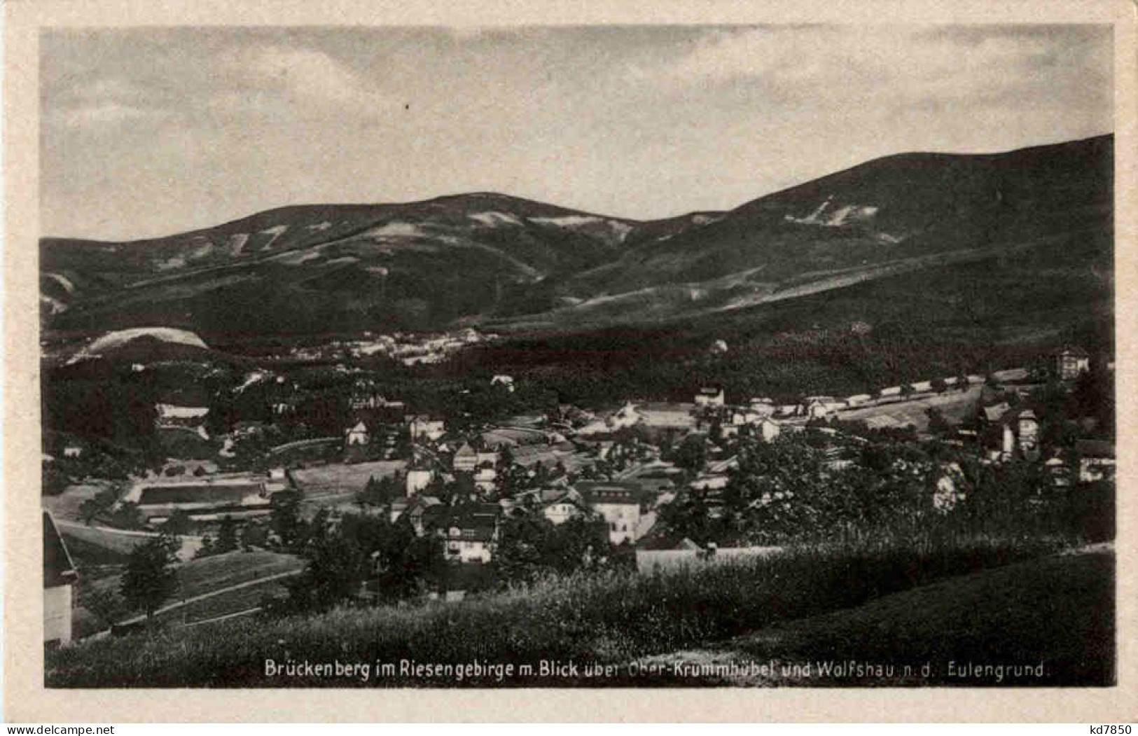
[[[336,677],[265,676],[265,661],[537,665],[618,664],[753,631],[1037,556],[1055,543],[956,538],[803,547],[781,556],[653,576],[546,580],[459,604],[340,609],[311,618],[155,630],[49,653],[52,687],[282,687],[364,685]],[[555,685],[547,678],[386,677],[369,685]]]

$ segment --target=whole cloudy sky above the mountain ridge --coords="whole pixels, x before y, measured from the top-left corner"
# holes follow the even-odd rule
[[[1106,26],[49,32],[42,226],[463,191],[725,209],[888,154],[1111,132],[1112,56]]]

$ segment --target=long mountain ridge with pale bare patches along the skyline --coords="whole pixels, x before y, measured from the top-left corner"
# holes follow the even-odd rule
[[[1110,228],[1112,166],[1108,134],[896,154],[729,210],[652,221],[467,192],[289,205],[134,241],[46,237],[41,314],[48,329],[160,321],[236,334],[737,308],[809,274],[888,274],[938,254]]]

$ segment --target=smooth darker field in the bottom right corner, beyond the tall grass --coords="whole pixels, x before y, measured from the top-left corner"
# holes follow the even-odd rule
[[[861,664],[861,671],[833,667],[848,662]],[[774,667],[761,670],[770,663]],[[706,669],[709,665],[711,669]],[[732,665],[734,671],[714,669]],[[872,669],[879,665],[889,669]],[[1004,669],[996,670],[996,665]],[[627,681],[683,686],[1111,685],[1115,679],[1114,555],[1099,548],[950,578],[855,609],[776,625],[717,646],[651,658],[635,669],[645,673],[658,668],[665,671],[628,677]]]

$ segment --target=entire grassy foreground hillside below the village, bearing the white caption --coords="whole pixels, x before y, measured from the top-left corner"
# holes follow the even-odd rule
[[[55,651],[46,677],[51,687],[616,686],[642,677],[643,668],[629,669],[630,662],[691,658],[668,653],[748,635],[718,647],[726,654],[716,656],[1044,660],[1049,675],[1037,684],[1106,685],[1113,678],[1113,652],[1104,644],[1113,642],[1113,554],[1039,557],[1045,548],[991,540],[816,548],[696,571],[578,576],[457,604],[220,621]],[[453,671],[398,669],[363,679],[358,671],[266,673],[265,665],[397,667],[403,660],[516,669],[501,679],[487,670],[456,678]],[[610,673],[594,679],[567,671],[552,680],[536,669],[520,673],[521,665],[536,668],[542,660],[602,665]]]

